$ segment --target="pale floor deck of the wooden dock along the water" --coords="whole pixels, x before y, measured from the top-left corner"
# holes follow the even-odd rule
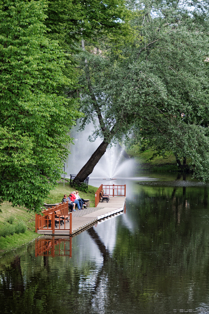
[[[89,229],[96,225],[98,221],[102,221],[102,219],[107,219],[107,217],[116,216],[118,213],[121,213],[125,210],[125,200],[125,196],[110,196],[108,203],[100,201],[97,207],[87,207],[86,209],[72,212],[72,236]],[[55,233],[52,233],[52,230],[49,229],[37,230],[37,233],[42,235],[69,236],[69,225],[70,223],[66,222],[65,226],[60,226],[58,230],[55,228]]]

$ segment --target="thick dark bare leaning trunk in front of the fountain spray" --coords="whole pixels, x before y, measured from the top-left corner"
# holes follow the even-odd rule
[[[91,155],[89,160],[86,162],[86,164],[82,167],[82,169],[79,171],[79,173],[75,177],[75,181],[83,182],[87,176],[91,174],[91,172],[94,170],[94,167],[97,165],[98,161],[101,159],[101,157],[106,152],[107,141],[103,141],[99,147],[95,150],[95,152]]]

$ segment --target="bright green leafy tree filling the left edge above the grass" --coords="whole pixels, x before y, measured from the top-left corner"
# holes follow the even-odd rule
[[[66,54],[46,37],[46,1],[0,1],[0,202],[40,211],[81,116],[66,98]]]

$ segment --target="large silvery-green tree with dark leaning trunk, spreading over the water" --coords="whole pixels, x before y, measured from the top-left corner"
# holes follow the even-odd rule
[[[103,139],[76,179],[83,181],[107,146],[122,135],[135,143],[190,157],[209,177],[208,3],[133,2],[134,40],[101,43],[102,54],[80,55],[83,126]],[[133,38],[132,38],[133,39]],[[185,118],[181,118],[181,112]],[[91,137],[92,140],[92,137]]]

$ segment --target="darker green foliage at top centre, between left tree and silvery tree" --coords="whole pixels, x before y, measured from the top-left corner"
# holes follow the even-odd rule
[[[130,14],[123,0],[53,0],[47,15],[48,36],[71,53],[79,51],[81,39],[95,47],[106,34],[115,41],[121,33],[130,33]]]

